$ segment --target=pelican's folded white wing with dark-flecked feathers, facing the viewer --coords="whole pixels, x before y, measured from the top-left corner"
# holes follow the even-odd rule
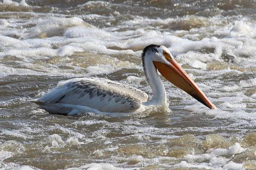
[[[73,78],[60,81],[57,87],[37,99],[48,104],[86,106],[101,112],[133,112],[145,100],[146,93],[139,89],[105,78]]]

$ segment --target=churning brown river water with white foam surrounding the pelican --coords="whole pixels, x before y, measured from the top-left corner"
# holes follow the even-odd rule
[[[256,169],[255,0],[0,2],[0,168]],[[152,97],[141,65],[169,48],[218,109],[163,78],[170,112],[48,115],[28,100],[96,76]]]

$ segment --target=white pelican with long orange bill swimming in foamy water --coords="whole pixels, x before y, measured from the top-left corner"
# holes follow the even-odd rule
[[[195,82],[175,61],[165,46],[149,45],[142,54],[142,63],[153,98],[132,86],[105,78],[73,78],[60,81],[54,89],[34,102],[50,114],[70,115],[81,112],[96,114],[131,114],[148,105],[166,104],[166,90],[157,70],[175,86],[187,92],[210,109],[209,101]]]

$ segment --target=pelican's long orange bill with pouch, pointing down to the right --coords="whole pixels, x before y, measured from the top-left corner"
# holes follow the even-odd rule
[[[172,84],[179,87],[210,109],[216,109],[212,102],[209,101],[206,95],[204,95],[189,75],[181,68],[181,66],[179,66],[175,59],[172,58],[168,61],[170,62],[170,65],[158,61],[153,61],[153,63],[161,75]]]

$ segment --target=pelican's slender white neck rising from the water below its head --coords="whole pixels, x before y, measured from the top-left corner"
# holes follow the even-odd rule
[[[166,104],[166,90],[157,73],[157,68],[154,66],[153,61],[147,61],[145,59],[144,73],[153,92],[153,98],[150,102],[154,104]]]

